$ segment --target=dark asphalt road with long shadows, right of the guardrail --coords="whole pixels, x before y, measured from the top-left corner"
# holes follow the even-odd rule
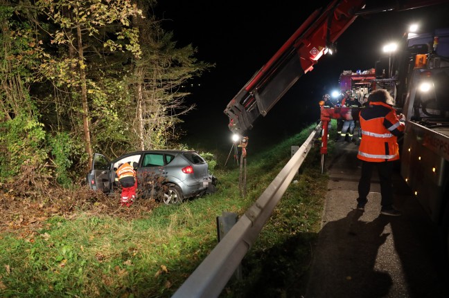
[[[306,298],[449,297],[437,226],[398,171],[394,205],[402,216],[380,215],[376,174],[365,211],[355,209],[357,149],[337,143],[335,158],[326,161],[330,180]]]

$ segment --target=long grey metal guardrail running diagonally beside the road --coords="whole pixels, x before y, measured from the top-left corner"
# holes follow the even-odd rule
[[[200,263],[200,266],[184,281],[172,296],[173,298],[211,298],[220,295],[261,232],[263,225],[270,218],[274,207],[282,198],[294,175],[297,174],[319,131],[321,131],[320,124],[310,133],[306,142],[294,153],[294,156],[268,185],[265,192],[247,209],[245,214]]]

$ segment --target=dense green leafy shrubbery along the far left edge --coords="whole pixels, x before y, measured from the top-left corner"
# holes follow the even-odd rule
[[[28,21],[15,17],[17,11],[0,6],[0,177],[17,178],[24,165],[44,174],[46,159],[44,124],[28,88],[39,80],[37,67],[42,44]]]

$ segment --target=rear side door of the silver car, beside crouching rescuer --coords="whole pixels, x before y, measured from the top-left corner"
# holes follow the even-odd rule
[[[166,177],[164,153],[145,152],[137,169],[138,187],[144,196],[149,196],[154,186],[160,185]],[[162,178],[162,179],[161,179]]]

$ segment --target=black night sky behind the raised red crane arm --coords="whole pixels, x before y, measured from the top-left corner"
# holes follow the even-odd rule
[[[193,44],[197,59],[216,64],[195,80],[201,86],[192,89],[187,100],[197,105],[182,124],[193,146],[207,143],[205,138],[218,149],[231,146],[229,120],[223,113],[229,101],[315,9],[330,1],[262,2],[159,1],[155,13],[164,18],[162,27],[174,32],[177,44]],[[319,59],[313,71],[300,77],[267,116],[254,123],[247,132],[249,145],[268,138],[276,142],[318,120],[317,102],[337,89],[342,71],[373,68],[385,55],[382,46],[399,39],[408,25],[419,21],[424,27],[442,28],[449,26],[448,16],[449,3],[358,17],[337,40],[337,53]]]

